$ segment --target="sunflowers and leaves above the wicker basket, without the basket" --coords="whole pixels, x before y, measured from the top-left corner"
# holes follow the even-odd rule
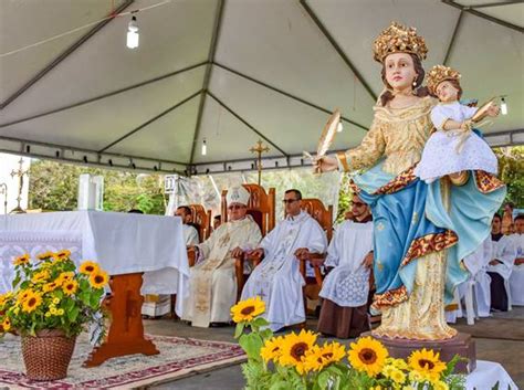
[[[76,270],[70,251],[42,253],[36,260],[24,254],[13,263],[13,289],[0,295],[0,337],[44,329],[74,337],[87,323],[103,328],[101,299],[108,275],[96,263],[87,261]]]

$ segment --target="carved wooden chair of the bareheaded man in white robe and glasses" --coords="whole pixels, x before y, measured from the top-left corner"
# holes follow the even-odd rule
[[[333,205],[324,207],[324,203],[319,199],[302,199],[302,210],[307,212],[313,217],[318,224],[324,229],[327,235],[327,242],[332,240],[333,236]],[[315,259],[324,259],[325,254],[315,254]],[[315,272],[314,281],[306,277],[306,261],[305,259],[300,260],[301,274],[306,281],[304,286],[304,307],[307,312],[307,299],[317,301],[318,293],[322,288],[323,276],[321,268],[316,265],[313,266]]]

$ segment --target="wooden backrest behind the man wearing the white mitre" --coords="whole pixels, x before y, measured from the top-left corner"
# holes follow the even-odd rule
[[[270,188],[265,192],[264,188],[259,185],[242,185],[251,194],[248,204],[248,214],[260,228],[262,235],[268,234],[275,226],[275,189]],[[228,222],[228,201],[226,197],[228,190],[222,191],[222,220]]]

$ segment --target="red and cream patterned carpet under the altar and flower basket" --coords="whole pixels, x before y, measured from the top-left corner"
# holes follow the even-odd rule
[[[81,337],[76,341],[67,378],[40,382],[25,378],[20,338],[8,335],[0,339],[0,389],[129,389],[245,360],[242,349],[235,344],[168,336],[148,338],[153,339],[159,355],[113,358],[99,367],[82,368],[93,348],[86,337]]]

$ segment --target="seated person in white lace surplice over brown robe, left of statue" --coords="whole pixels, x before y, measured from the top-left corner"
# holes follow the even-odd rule
[[[367,316],[373,265],[373,219],[369,207],[354,194],[352,220],[340,223],[327,249],[322,284],[324,298],[318,331],[337,338],[358,337],[370,330]]]

